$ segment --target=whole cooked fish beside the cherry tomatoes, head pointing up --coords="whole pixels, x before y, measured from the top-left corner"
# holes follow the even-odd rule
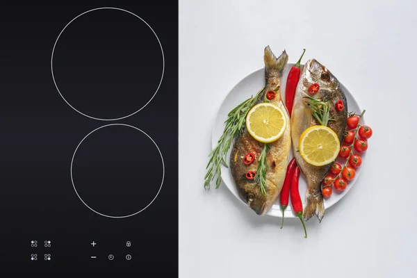
[[[313,83],[318,83],[320,90],[318,90],[316,95],[309,95],[308,88]],[[343,88],[341,88],[338,79],[326,67],[318,63],[317,60],[311,59],[307,61],[295,91],[293,112],[291,115],[291,138],[293,140],[295,160],[307,181],[306,202],[303,211],[304,221],[316,215],[319,222],[321,222],[325,215],[325,205],[321,194],[321,182],[332,166],[332,163],[320,167],[314,166],[306,163],[300,153],[297,152],[302,132],[310,126],[320,124],[311,115],[311,108],[303,99],[306,96],[330,102],[329,117],[334,120],[329,121],[327,126],[336,133],[340,142],[343,142],[343,133],[347,124],[347,101],[345,92],[343,92]],[[343,111],[336,111],[335,104],[339,99],[343,101]]]

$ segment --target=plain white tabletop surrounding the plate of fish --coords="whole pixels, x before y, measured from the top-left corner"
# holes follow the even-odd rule
[[[416,277],[416,1],[180,1],[179,277]],[[354,188],[319,224],[204,190],[216,112],[263,48],[317,58],[373,127]]]

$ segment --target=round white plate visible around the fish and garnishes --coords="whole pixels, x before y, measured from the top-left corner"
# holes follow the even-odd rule
[[[286,69],[284,71],[283,80],[281,82],[281,95],[282,95],[284,103],[285,103],[286,79],[287,79],[287,76],[288,76],[288,72],[290,71],[290,69],[293,65],[294,64],[288,63],[288,65],[286,66]],[[302,65],[302,67],[303,66],[304,65]],[[302,67],[301,67],[301,70],[302,70]],[[339,78],[338,76],[336,76],[336,77]],[[341,82],[341,81],[339,80],[339,82]],[[261,69],[256,70],[255,72],[252,72],[252,74],[249,74],[248,76],[246,76],[239,83],[237,83],[234,86],[233,89],[231,89],[229,94],[224,99],[222,105],[220,106],[220,109],[218,111],[218,115],[215,119],[215,124],[214,124],[214,127],[213,127],[213,134],[212,134],[212,141],[211,141],[211,144],[212,144],[213,148],[215,147],[215,145],[217,145],[217,142],[218,142],[220,136],[222,136],[222,133],[223,133],[223,130],[224,130],[224,121],[227,119],[227,114],[229,113],[229,111],[231,111],[234,107],[236,107],[238,104],[240,104],[245,99],[248,99],[249,97],[251,97],[253,95],[256,95],[256,92],[261,90],[261,88],[263,88],[264,85],[265,85],[265,69],[262,67]],[[341,84],[341,85],[342,85],[343,88],[345,88],[345,86],[343,86],[343,84]],[[346,99],[347,99],[347,111],[348,112],[354,111],[358,114],[361,113],[362,110],[359,107],[359,105],[357,104],[357,101],[354,99],[352,94],[346,88],[345,88],[345,95],[346,95]],[[362,117],[361,124],[364,124],[364,123],[365,123],[364,117]],[[227,161],[228,164],[229,164],[230,151],[231,151],[231,147],[229,149],[229,153],[227,154],[227,160],[226,161]],[[362,160],[364,160],[365,154],[361,154]],[[290,154],[290,160],[291,160],[291,158],[293,158],[292,149],[291,149],[291,154]],[[343,159],[341,159],[341,158],[338,158],[337,161],[341,165],[343,165],[345,163],[345,161],[343,161]],[[347,183],[346,189],[343,192],[338,193],[338,192],[336,192],[336,190],[333,190],[332,196],[329,197],[328,199],[325,199],[325,208],[329,208],[330,206],[333,206],[340,199],[342,199],[349,192],[350,188],[352,188],[352,186],[354,186],[354,183],[357,181],[360,173],[361,173],[361,167],[357,168],[355,178],[352,181],[349,181]],[[229,168],[224,167],[224,166],[222,166],[222,181],[223,181],[223,184],[225,184],[227,186],[227,188],[229,188],[231,193],[233,193],[236,196],[236,198],[240,199],[240,197],[238,195],[238,190],[236,188],[236,183],[235,183],[233,177],[231,176],[231,172],[230,172]],[[306,194],[306,180],[305,180],[305,178],[302,174],[300,174],[300,184],[299,184],[299,186],[300,186],[300,195],[302,197],[302,202],[304,204],[305,203],[305,194]],[[242,204],[244,206],[247,206],[247,204],[245,202],[243,202],[242,199],[240,199],[240,201],[242,202]],[[279,217],[279,218],[282,217],[282,212],[281,212],[281,209],[279,208],[279,197],[278,197],[277,201],[273,204],[270,211],[268,211],[265,214],[266,215],[271,215],[271,216],[276,216],[276,217]],[[290,199],[290,202],[289,202],[288,207],[287,207],[286,212],[285,212],[285,218],[296,218],[296,217],[297,216],[295,215],[295,213],[293,213],[293,211],[291,209],[291,199]]]

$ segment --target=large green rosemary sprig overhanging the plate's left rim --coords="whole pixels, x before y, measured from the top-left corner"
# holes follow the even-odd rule
[[[206,169],[208,169],[208,171],[206,173],[206,176],[204,177],[204,188],[210,188],[210,183],[211,181],[213,181],[215,177],[217,177],[215,181],[215,188],[219,188],[220,183],[222,181],[221,165],[224,165],[224,167],[228,167],[225,158],[227,152],[229,151],[231,140],[242,133],[246,123],[246,115],[250,111],[250,109],[256,104],[256,101],[258,101],[264,88],[259,90],[259,92],[256,93],[255,97],[250,97],[249,99],[246,99],[241,104],[236,106],[232,111],[230,111],[227,115],[227,120],[224,121],[224,123],[226,123],[226,126],[224,126],[223,134],[218,140],[218,144],[208,155],[210,157],[210,160],[208,161],[206,166]]]

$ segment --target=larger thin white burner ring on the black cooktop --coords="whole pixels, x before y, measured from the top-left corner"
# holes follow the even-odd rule
[[[62,35],[62,33],[64,32],[64,30],[65,30],[65,28],[67,28],[67,26],[70,26],[70,24],[72,23],[72,22],[74,22],[74,20],[75,19],[77,19],[77,18],[79,18],[79,17],[81,17],[81,15],[85,15],[86,13],[90,13],[90,12],[92,12],[92,11],[95,11],[95,10],[106,10],[106,9],[109,9],[109,10],[121,10],[122,12],[125,12],[125,13],[129,13],[129,14],[131,14],[131,15],[133,15],[133,16],[135,16],[135,17],[137,17],[138,19],[140,19],[140,20],[142,20],[142,22],[143,23],[145,23],[150,29],[151,29],[151,31],[152,31],[152,33],[154,33],[154,35],[155,35],[155,37],[156,37],[156,40],[158,40],[158,44],[159,44],[159,46],[161,47],[161,54],[162,54],[162,73],[161,73],[161,81],[159,81],[159,84],[158,84],[158,87],[156,88],[156,90],[155,90],[155,92],[154,92],[154,95],[152,95],[152,97],[149,99],[149,101],[147,101],[147,103],[144,105],[144,106],[142,106],[142,108],[140,108],[140,109],[138,109],[138,111],[135,111],[135,112],[133,112],[133,113],[131,113],[131,114],[129,114],[129,115],[125,115],[125,116],[123,116],[123,117],[117,117],[117,118],[111,118],[111,119],[105,119],[105,118],[101,118],[101,117],[93,117],[93,116],[90,116],[90,115],[87,115],[87,114],[85,114],[85,113],[82,113],[81,111],[78,111],[76,108],[74,108],[74,106],[72,106],[68,101],[67,101],[67,99],[65,99],[65,97],[63,96],[63,94],[61,94],[61,92],[60,92],[60,90],[59,90],[59,88],[58,88],[58,84],[56,83],[56,81],[55,81],[55,76],[54,76],[54,51],[55,51],[55,47],[56,47],[56,43],[58,42],[58,40],[59,40],[59,38],[60,38],[60,35]],[[53,79],[53,81],[54,81],[54,85],[55,85],[55,88],[56,88],[56,90],[58,90],[58,93],[59,93],[59,95],[63,98],[63,100],[65,101],[65,103],[67,103],[72,109],[74,109],[74,111],[76,111],[76,112],[78,112],[78,113],[80,113],[81,115],[83,115],[83,116],[85,116],[85,117],[89,117],[90,119],[93,119],[93,120],[100,120],[100,121],[117,121],[117,120],[122,120],[122,119],[125,119],[126,117],[131,117],[131,116],[133,116],[133,115],[135,115],[136,113],[138,113],[139,111],[141,111],[143,108],[145,108],[148,104],[149,104],[149,102],[151,102],[152,101],[152,99],[154,99],[154,97],[155,97],[155,95],[156,95],[156,93],[158,92],[158,90],[159,90],[159,88],[161,87],[161,84],[162,84],[162,80],[163,80],[163,75],[164,75],[164,73],[165,73],[165,56],[164,56],[164,54],[163,54],[163,47],[162,47],[162,44],[161,44],[161,41],[159,40],[159,38],[158,38],[158,35],[156,35],[156,33],[155,33],[155,31],[154,31],[154,29],[147,23],[147,22],[145,22],[145,20],[144,19],[142,19],[142,17],[139,17],[138,15],[136,15],[135,13],[132,13],[132,12],[130,12],[129,10],[124,10],[124,9],[122,9],[122,8],[115,8],[115,7],[101,7],[101,8],[93,8],[93,9],[91,9],[91,10],[87,10],[87,11],[85,11],[84,13],[81,13],[80,15],[77,15],[76,17],[74,17],[73,19],[71,19],[71,21],[70,22],[68,22],[67,23],[67,25],[65,25],[65,27],[63,28],[63,30],[62,31],[60,31],[60,33],[59,33],[59,35],[58,35],[58,38],[56,38],[56,41],[55,41],[55,43],[54,43],[54,47],[52,48],[52,54],[51,54],[51,74],[52,74],[52,79]]]

